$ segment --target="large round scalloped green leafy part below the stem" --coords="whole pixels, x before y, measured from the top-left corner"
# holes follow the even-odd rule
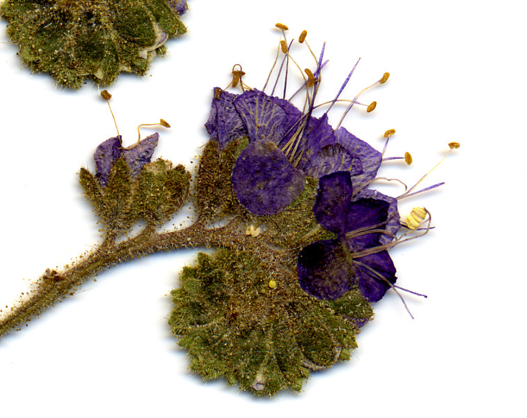
[[[272,396],[299,391],[311,370],[349,359],[359,332],[354,321],[372,316],[361,293],[321,301],[291,274],[274,280],[271,288],[265,262],[248,251],[200,253],[184,268],[169,323],[193,371]]]

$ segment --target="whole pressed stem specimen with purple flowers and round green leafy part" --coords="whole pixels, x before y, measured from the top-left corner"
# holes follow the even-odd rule
[[[299,40],[306,42],[305,32]],[[283,65],[291,45],[281,41]],[[0,320],[0,336],[111,265],[206,247],[214,250],[183,269],[169,320],[193,371],[271,396],[298,391],[310,371],[349,359],[372,302],[397,291],[388,250],[427,233],[430,212],[416,209],[401,222],[398,201],[421,191],[393,198],[372,189],[384,151],[332,127],[327,113],[313,115],[324,49],[313,57],[313,69],[302,72],[302,108],[265,87],[249,88],[233,68],[233,87],[242,92],[214,89],[210,141],[193,181],[181,165],[152,161],[158,134],[127,148],[119,135],[100,144],[95,174],[81,169],[80,183],[103,225],[101,244],[72,267],[46,270]],[[361,106],[358,95],[345,102]],[[194,222],[163,231],[187,201]],[[142,229],[132,235],[138,222]]]

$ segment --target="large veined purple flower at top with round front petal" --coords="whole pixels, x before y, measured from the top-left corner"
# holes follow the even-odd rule
[[[215,95],[205,127],[220,149],[249,138],[232,180],[238,200],[255,215],[272,215],[289,206],[302,192],[300,179],[305,176],[349,171],[354,187],[365,186],[382,161],[381,153],[345,128],[334,131],[327,115],[314,118],[310,111],[303,114],[287,100],[258,90]],[[259,142],[265,145],[255,145]],[[262,150],[267,152],[260,154]]]

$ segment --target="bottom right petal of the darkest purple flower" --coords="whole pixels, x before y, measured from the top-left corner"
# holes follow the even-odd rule
[[[395,277],[395,265],[393,265],[388,251],[381,251],[370,254],[369,256],[356,258],[355,261],[359,261],[367,266],[365,267],[358,263],[355,264],[357,278],[359,279],[359,289],[363,296],[370,302],[381,300],[386,291],[391,287],[386,283],[386,280],[391,284],[394,284],[397,280],[397,277]],[[372,270],[386,280],[378,277]]]

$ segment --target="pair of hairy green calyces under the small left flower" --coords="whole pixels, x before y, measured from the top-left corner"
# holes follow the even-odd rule
[[[79,180],[104,229],[118,236],[140,219],[150,226],[170,219],[187,199],[190,173],[182,165],[173,167],[171,162],[157,160],[146,164],[138,178],[132,179],[127,163],[120,158],[113,164],[105,187],[100,187],[84,168]]]

